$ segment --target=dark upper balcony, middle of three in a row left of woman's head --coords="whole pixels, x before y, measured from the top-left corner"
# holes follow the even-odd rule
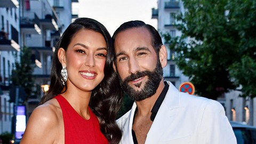
[[[20,22],[20,29],[24,34],[41,34],[41,28],[39,28],[40,20],[34,13],[34,17],[22,17]]]

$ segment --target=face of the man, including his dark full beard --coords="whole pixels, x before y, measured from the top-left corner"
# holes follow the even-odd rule
[[[158,54],[146,28],[132,28],[116,35],[116,70],[122,89],[135,101],[156,93],[163,76]]]

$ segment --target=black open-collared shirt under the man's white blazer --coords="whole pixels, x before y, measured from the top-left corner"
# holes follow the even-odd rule
[[[153,108],[151,109],[151,116],[150,116],[150,120],[152,122],[154,122],[154,119],[156,117],[156,114],[160,108],[160,106],[162,105],[163,101],[164,101],[164,98],[165,98],[165,95],[169,89],[169,84],[167,82],[164,82],[165,86],[164,86],[164,89],[163,91],[161,92],[161,94],[159,95],[159,97],[157,98]],[[138,111],[138,108],[135,109],[135,113],[134,113],[134,116],[133,116],[133,122],[134,122],[134,118],[135,118],[135,115],[137,114],[137,111]],[[132,139],[133,139],[133,143],[134,144],[138,144],[138,141],[137,141],[137,138],[136,138],[136,135],[135,135],[135,132],[132,130]]]

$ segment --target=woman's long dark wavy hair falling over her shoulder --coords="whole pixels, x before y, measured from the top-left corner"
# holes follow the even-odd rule
[[[102,34],[107,43],[108,51],[113,47],[108,30],[100,22],[90,18],[78,18],[72,22],[61,36],[57,49],[54,52],[50,88],[41,99],[40,105],[67,90],[67,85],[63,85],[61,81],[62,66],[58,59],[58,50],[62,47],[67,51],[71,39],[81,29],[89,29]],[[89,106],[93,113],[100,119],[100,130],[108,141],[110,143],[119,143],[122,138],[122,131],[115,123],[115,118],[123,101],[123,92],[119,85],[117,73],[113,69],[113,59],[114,57],[111,57],[111,55],[107,53],[104,68],[105,77],[92,91]]]

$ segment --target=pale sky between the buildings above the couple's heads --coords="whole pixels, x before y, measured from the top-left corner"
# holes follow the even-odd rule
[[[157,29],[157,20],[151,19],[151,9],[157,9],[157,0],[78,0],[72,6],[79,18],[99,21],[111,36],[122,23],[130,20],[142,20]]]

